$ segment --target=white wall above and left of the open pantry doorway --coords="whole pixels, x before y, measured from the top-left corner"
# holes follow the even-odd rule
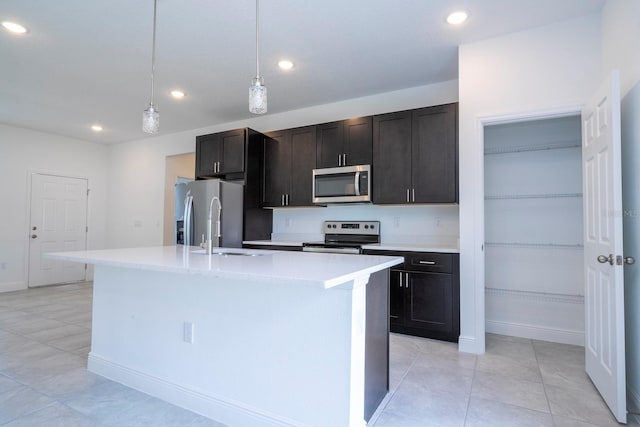
[[[460,349],[484,352],[483,123],[577,111],[600,81],[600,17],[459,48]]]

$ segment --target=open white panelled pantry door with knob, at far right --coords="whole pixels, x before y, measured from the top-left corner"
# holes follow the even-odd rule
[[[620,78],[582,110],[585,364],[619,422],[627,422],[622,257]]]

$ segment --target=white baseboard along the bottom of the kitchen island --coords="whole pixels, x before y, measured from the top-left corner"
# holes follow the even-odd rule
[[[299,422],[266,413],[240,402],[185,388],[162,378],[121,366],[94,353],[89,353],[87,369],[110,380],[227,425],[255,427],[301,425]]]

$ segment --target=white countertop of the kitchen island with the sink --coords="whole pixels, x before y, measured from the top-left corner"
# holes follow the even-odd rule
[[[87,264],[204,275],[216,278],[292,281],[331,288],[403,262],[402,257],[214,248],[243,255],[205,255],[198,247],[156,246],[49,253]],[[201,252],[201,253],[197,253]]]

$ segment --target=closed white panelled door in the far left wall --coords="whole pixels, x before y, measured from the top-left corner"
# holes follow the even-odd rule
[[[86,249],[87,188],[86,179],[31,175],[29,287],[85,280],[84,264],[44,254]]]

